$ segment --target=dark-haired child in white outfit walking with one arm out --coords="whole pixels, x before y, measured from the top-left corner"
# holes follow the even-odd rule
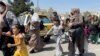
[[[62,56],[62,47],[60,44],[61,35],[62,35],[62,29],[63,27],[60,25],[59,19],[53,20],[54,26],[48,31],[47,35],[49,35],[51,32],[53,33],[53,37],[56,41],[56,56]],[[45,37],[47,37],[47,35]]]

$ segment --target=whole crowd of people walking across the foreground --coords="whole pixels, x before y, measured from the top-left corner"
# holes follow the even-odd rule
[[[41,51],[45,45],[40,38],[40,20],[37,13],[31,16],[26,26],[21,26],[18,22],[11,23],[6,18],[8,6],[0,2],[0,7],[4,11],[0,11],[0,50],[4,56],[29,56],[29,53]],[[13,19],[13,18],[12,18]],[[88,43],[91,39],[92,43],[98,43],[100,33],[100,20],[97,16],[89,15],[83,17],[79,8],[73,8],[70,17],[62,21],[60,18],[54,17],[52,28],[44,36],[46,38],[50,33],[56,42],[55,56],[63,56],[61,46],[62,35],[65,34],[69,41],[68,56],[75,56],[76,47],[79,50],[79,56],[88,52]],[[29,35],[29,39],[26,39]],[[26,41],[27,40],[27,41]],[[27,42],[27,43],[26,43]]]

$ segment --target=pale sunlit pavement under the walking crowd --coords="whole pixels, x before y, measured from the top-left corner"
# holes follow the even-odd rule
[[[68,43],[62,43],[64,55],[67,56],[68,54]],[[55,54],[55,43],[51,41],[50,43],[46,44],[43,51],[38,53],[30,54],[29,56],[54,56]],[[76,52],[78,54],[78,52]],[[0,52],[0,56],[2,52]],[[100,56],[100,45],[97,44],[89,44],[89,53],[85,54],[84,56]]]

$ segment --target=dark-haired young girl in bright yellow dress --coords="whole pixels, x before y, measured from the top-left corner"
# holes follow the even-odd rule
[[[13,25],[12,26],[12,32],[14,34],[14,41],[15,41],[15,44],[8,44],[7,46],[10,48],[10,47],[16,47],[16,51],[14,53],[14,56],[28,56],[28,51],[27,51],[27,47],[25,45],[25,42],[24,42],[24,36],[22,34],[22,32],[20,32],[20,26],[19,25]],[[6,33],[6,35],[10,36],[11,34],[8,32]]]

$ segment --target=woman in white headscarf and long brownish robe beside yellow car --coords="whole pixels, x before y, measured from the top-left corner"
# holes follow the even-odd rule
[[[39,16],[37,13],[34,13],[32,18],[31,18],[31,24],[30,24],[30,30],[29,34],[31,36],[29,40],[29,52],[37,52],[40,51],[44,43],[42,39],[40,38],[40,22],[39,22]]]

